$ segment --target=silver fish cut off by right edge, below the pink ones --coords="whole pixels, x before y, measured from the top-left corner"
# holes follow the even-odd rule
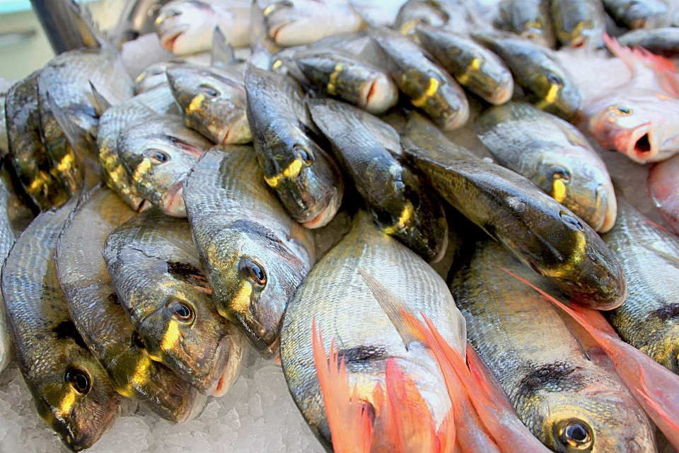
[[[603,236],[627,277],[625,303],[607,313],[623,340],[679,374],[679,238],[620,201]]]

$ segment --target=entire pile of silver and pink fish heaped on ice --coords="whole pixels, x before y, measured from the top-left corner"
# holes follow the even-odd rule
[[[679,448],[675,5],[365,3],[170,1],[135,81],[76,17],[0,96],[0,370],[73,451],[195,417],[246,342],[337,452]]]

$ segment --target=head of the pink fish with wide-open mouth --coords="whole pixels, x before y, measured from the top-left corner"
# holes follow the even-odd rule
[[[676,149],[671,131],[679,118],[679,102],[668,96],[609,95],[588,103],[582,114],[601,146],[639,164],[666,159],[668,151]]]

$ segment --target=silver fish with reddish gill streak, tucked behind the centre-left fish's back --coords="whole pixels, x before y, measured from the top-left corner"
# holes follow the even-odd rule
[[[186,217],[184,179],[211,146],[175,115],[149,117],[141,124],[129,125],[117,140],[118,156],[132,187],[151,205],[174,217]]]

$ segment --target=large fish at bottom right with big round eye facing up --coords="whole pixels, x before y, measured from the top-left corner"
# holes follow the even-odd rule
[[[528,429],[556,452],[656,452],[653,425],[608,357],[501,267],[545,286],[499,243],[482,241],[451,292],[470,344]]]

